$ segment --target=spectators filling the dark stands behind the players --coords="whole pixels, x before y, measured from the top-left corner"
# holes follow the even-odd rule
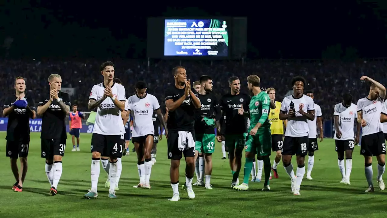
[[[274,87],[277,100],[291,90],[291,78],[303,76],[307,80],[306,90],[313,90],[315,102],[321,106],[324,119],[332,119],[333,107],[341,101],[342,93],[350,92],[357,101],[368,93],[368,85],[360,81],[367,75],[382,84],[387,84],[386,61],[384,59],[358,60],[356,62],[322,60],[244,60],[244,61],[166,61],[146,59],[114,60],[115,77],[122,80],[127,96],[134,94],[134,85],[143,80],[148,92],[164,103],[164,89],[173,83],[171,69],[182,65],[187,76],[196,81],[201,75],[208,74],[214,80],[214,93],[220,98],[229,92],[228,78],[238,76],[242,90],[247,92],[246,77],[257,74],[262,87]],[[62,76],[65,88],[76,88],[71,102],[77,104],[79,111],[87,111],[87,101],[94,84],[100,83],[98,67],[101,60],[88,61],[0,61],[0,103],[5,97],[14,94],[14,80],[17,76],[26,78],[27,92],[34,99],[48,93],[48,76],[57,73]],[[149,63],[149,64],[148,64]],[[356,104],[356,102],[354,102]]]

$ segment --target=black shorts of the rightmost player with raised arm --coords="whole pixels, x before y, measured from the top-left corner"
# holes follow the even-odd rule
[[[360,154],[370,157],[386,154],[386,145],[383,132],[362,135]]]

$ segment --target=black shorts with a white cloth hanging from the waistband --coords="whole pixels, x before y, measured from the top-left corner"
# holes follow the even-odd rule
[[[192,131],[192,137],[195,143],[195,133]],[[195,144],[189,149],[180,151],[178,148],[178,131],[168,131],[168,159],[180,160],[184,157],[195,157]]]

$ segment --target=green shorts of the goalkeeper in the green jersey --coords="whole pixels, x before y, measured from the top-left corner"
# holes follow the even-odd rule
[[[246,152],[257,152],[257,156],[270,156],[271,154],[271,131],[263,129],[256,135],[248,135],[246,140]]]

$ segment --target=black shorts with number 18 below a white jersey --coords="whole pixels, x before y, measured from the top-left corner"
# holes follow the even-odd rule
[[[284,146],[282,147],[283,155],[301,155],[306,156],[308,152],[309,137],[290,137],[285,136]]]

